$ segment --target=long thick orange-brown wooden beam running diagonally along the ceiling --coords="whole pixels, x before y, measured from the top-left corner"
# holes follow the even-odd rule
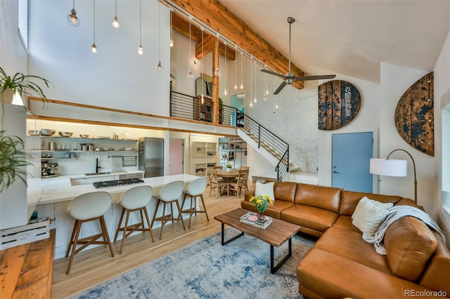
[[[274,69],[276,72],[286,74],[289,60],[271,46],[259,34],[248,25],[233,15],[225,6],[217,0],[171,0],[184,11],[193,15],[205,25],[221,36],[225,36],[238,47],[260,60],[262,63]],[[229,47],[231,48],[231,47]],[[227,47],[228,52],[228,47]],[[290,72],[295,76],[303,76],[303,71],[291,63]],[[294,81],[292,86],[303,88],[303,81]]]

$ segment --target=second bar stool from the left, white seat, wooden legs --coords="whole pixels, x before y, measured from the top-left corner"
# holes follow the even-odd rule
[[[127,237],[129,237],[130,234],[133,232],[150,232],[150,236],[152,237],[152,241],[155,242],[155,239],[153,239],[153,232],[150,227],[150,220],[148,219],[148,213],[147,213],[147,204],[150,202],[150,199],[152,199],[153,196],[153,188],[150,186],[136,186],[132,187],[131,189],[127,190],[122,194],[122,197],[120,197],[120,200],[117,204],[120,204],[122,206],[122,213],[120,214],[120,220],[119,224],[117,225],[117,230],[115,231],[115,237],[114,241],[117,240],[117,235],[119,232],[123,232],[122,236],[122,244],[120,245],[120,253],[122,254],[122,249],[124,247],[124,242]],[[122,220],[124,218],[125,211],[127,211],[127,217],[125,218],[125,223],[123,227],[120,227],[122,224]],[[139,211],[141,214],[141,222],[136,223],[134,225],[128,225],[129,215],[131,212]],[[148,228],[144,225],[144,218],[143,213],[146,215],[147,225]]]

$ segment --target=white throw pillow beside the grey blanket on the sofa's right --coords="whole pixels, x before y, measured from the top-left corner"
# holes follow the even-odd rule
[[[356,206],[352,215],[353,225],[363,233],[374,235],[378,227],[389,215],[388,207],[393,204],[383,204],[379,201],[374,202],[367,197],[363,197]]]

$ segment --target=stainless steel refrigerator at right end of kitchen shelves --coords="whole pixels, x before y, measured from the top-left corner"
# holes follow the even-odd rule
[[[164,139],[139,138],[139,170],[144,178],[164,175]]]

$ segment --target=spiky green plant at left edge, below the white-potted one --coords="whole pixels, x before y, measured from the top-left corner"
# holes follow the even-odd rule
[[[0,131],[0,192],[7,189],[16,178],[20,178],[25,185],[27,171],[23,169],[32,165],[27,160],[23,140],[18,136],[7,136],[6,131]]]

